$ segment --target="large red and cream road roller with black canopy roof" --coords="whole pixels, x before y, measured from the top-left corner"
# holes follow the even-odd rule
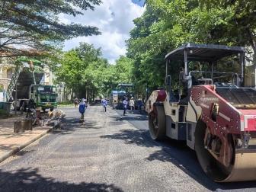
[[[186,142],[216,182],[256,180],[256,90],[245,87],[245,48],[187,43],[165,61],[165,86],[146,102],[152,139]]]

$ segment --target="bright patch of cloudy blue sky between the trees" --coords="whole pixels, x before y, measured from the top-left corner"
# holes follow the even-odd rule
[[[102,0],[100,6],[94,11],[85,11],[84,15],[75,18],[66,14],[60,14],[60,21],[70,24],[71,22],[98,27],[101,35],[90,37],[76,37],[66,40],[63,50],[70,50],[79,45],[79,42],[93,44],[95,48],[101,47],[103,57],[111,64],[120,55],[126,54],[125,40],[130,37],[133,29],[133,19],[139,18],[145,8],[144,0]]]

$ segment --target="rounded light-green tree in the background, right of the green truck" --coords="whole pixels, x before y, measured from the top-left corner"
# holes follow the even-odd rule
[[[66,86],[77,97],[92,99],[98,94],[105,94],[107,84],[113,78],[107,59],[101,57],[101,49],[95,49],[88,43],[80,43],[78,47],[66,53],[61,60],[62,67],[57,69],[58,81]]]

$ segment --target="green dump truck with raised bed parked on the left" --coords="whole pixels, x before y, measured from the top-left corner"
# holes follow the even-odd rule
[[[33,99],[36,107],[40,107],[41,110],[56,108],[58,104],[56,86],[41,85],[42,78],[43,72],[34,72],[34,70],[31,72],[30,68],[24,67],[23,64],[17,65],[8,85],[6,101],[13,101],[17,110],[21,108],[26,110],[30,99]],[[16,97],[17,102],[15,102]]]

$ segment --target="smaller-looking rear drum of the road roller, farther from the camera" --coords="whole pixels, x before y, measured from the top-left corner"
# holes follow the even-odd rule
[[[161,105],[155,105],[149,114],[149,133],[154,140],[165,138],[165,109]]]

